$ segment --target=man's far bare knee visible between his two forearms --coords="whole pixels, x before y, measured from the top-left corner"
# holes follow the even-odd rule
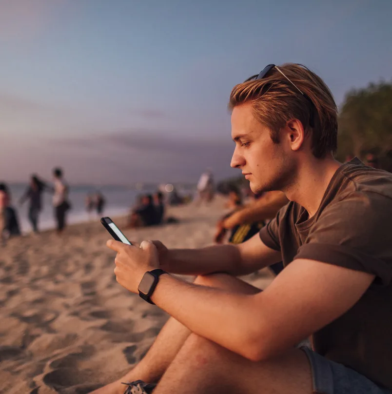
[[[194,283],[196,285],[214,287],[216,289],[229,290],[235,293],[249,295],[257,294],[261,291],[249,283],[225,273],[199,275],[196,277]]]

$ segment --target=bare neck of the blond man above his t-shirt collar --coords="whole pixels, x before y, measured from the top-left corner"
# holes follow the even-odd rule
[[[303,206],[314,216],[334,173],[341,166],[332,156],[312,158],[300,165],[295,183],[284,191],[287,198]]]

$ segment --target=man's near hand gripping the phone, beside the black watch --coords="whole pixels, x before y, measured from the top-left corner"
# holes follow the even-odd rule
[[[114,273],[118,283],[132,293],[138,293],[137,287],[147,271],[159,268],[157,248],[150,241],[143,241],[138,248],[110,239],[106,246],[117,252]]]

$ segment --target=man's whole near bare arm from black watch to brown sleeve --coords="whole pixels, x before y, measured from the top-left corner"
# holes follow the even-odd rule
[[[258,361],[293,347],[343,315],[373,279],[364,272],[298,259],[254,296],[163,275],[152,300],[193,333]]]

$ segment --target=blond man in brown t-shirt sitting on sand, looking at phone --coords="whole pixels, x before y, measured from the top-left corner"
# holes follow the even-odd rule
[[[172,317],[144,359],[97,393],[137,379],[158,382],[154,394],[392,393],[392,175],[334,160],[336,106],[303,66],[267,66],[234,87],[230,108],[231,166],[253,192],[290,202],[238,245],[108,241],[118,283]],[[281,260],[263,292],[236,277]],[[198,276],[148,273],[158,268]],[[309,336],[313,350],[296,348]]]

